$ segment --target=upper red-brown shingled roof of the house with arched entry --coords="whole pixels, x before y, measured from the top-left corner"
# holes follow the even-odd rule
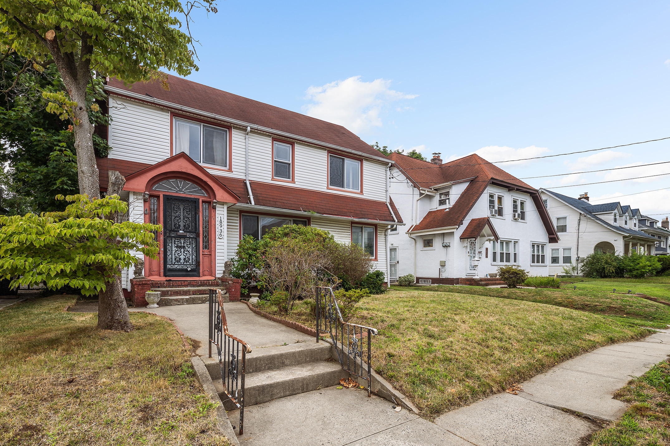
[[[111,78],[107,84],[135,94],[149,95],[150,98],[172,104],[384,158],[383,154],[377,152],[358,136],[332,122],[310,118],[304,114],[243,98],[237,94],[217,90],[171,74],[167,75],[167,82],[170,84],[170,91],[163,90],[161,83],[157,81],[137,82],[137,84],[125,86],[120,80]]]

